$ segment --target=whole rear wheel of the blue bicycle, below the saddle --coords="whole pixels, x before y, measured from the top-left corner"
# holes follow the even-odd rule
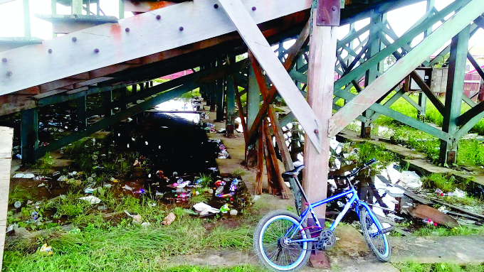
[[[293,243],[288,236],[298,227],[300,217],[285,210],[265,215],[254,232],[254,250],[263,266],[273,271],[296,271],[306,265],[311,243]],[[310,239],[305,224],[299,226],[292,240]]]

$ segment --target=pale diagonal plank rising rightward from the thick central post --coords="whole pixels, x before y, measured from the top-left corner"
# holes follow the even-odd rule
[[[469,20],[480,16],[484,12],[484,5],[478,0],[470,1],[454,16],[443,23],[436,31],[431,33],[413,50],[397,61],[382,76],[378,77],[371,85],[365,88],[355,99],[349,101],[340,111],[332,116],[330,121],[329,136],[335,136],[353,121],[364,110],[386,93],[387,86],[394,86],[411,71],[415,70],[429,55],[434,53],[443,43],[456,36],[463,28],[469,25]],[[381,51],[382,53],[383,51]]]

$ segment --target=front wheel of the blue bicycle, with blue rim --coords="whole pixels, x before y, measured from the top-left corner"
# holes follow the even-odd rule
[[[371,220],[371,222],[369,222]],[[375,222],[376,220],[376,222]],[[387,262],[390,261],[391,258],[391,248],[390,244],[388,241],[388,238],[386,237],[386,234],[378,234],[376,237],[381,237],[382,243],[384,244],[384,252],[382,253],[381,248],[377,248],[376,243],[374,242],[375,237],[371,237],[370,235],[370,229],[372,229],[372,232],[375,230],[378,231],[377,226],[382,226],[380,222],[378,221],[377,217],[372,217],[369,216],[369,211],[367,210],[366,207],[362,207],[361,210],[359,211],[359,223],[362,224],[362,231],[363,231],[363,236],[364,239],[367,240],[367,244],[369,246],[369,249],[373,251],[373,254],[377,256],[377,259],[382,262]],[[369,225],[370,224],[370,225]]]

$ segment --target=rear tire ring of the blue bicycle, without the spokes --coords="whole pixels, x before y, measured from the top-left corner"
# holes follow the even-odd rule
[[[312,249],[312,243],[311,242],[303,242],[302,243],[302,248],[300,249],[301,253],[298,259],[294,262],[291,263],[288,266],[279,266],[276,263],[273,263],[270,261],[268,258],[268,254],[265,253],[264,246],[263,246],[263,238],[264,238],[264,232],[267,230],[267,228],[272,224],[273,222],[276,222],[276,220],[279,219],[284,219],[288,220],[289,222],[293,222],[293,224],[298,224],[300,222],[300,217],[297,214],[294,214],[293,212],[288,212],[285,210],[275,210],[273,212],[269,212],[266,214],[261,221],[258,222],[256,231],[253,234],[253,247],[254,251],[256,252],[256,256],[259,260],[259,262],[265,266],[265,268],[268,268],[273,271],[298,271],[300,268],[306,266],[307,260],[310,257]],[[301,236],[305,239],[310,238],[309,231],[307,231],[306,224],[302,223],[300,226],[301,230]]]

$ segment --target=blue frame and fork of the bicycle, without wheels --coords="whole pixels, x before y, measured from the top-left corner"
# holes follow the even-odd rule
[[[316,214],[314,212],[315,207],[319,207],[320,205],[324,205],[327,202],[332,202],[333,200],[337,200],[337,199],[342,198],[342,197],[345,197],[345,196],[347,196],[349,194],[352,194],[351,198],[349,199],[349,201],[347,202],[347,204],[344,205],[344,209],[342,210],[342,212],[340,212],[340,214],[338,214],[338,216],[335,219],[335,222],[333,222],[331,224],[330,229],[332,231],[335,230],[335,228],[337,227],[337,225],[340,224],[341,219],[348,212],[349,208],[352,207],[352,205],[354,204],[354,210],[357,212],[358,217],[359,217],[359,205],[362,205],[362,206],[364,206],[364,208],[367,209],[367,211],[369,213],[369,216],[372,218],[373,222],[375,222],[375,224],[377,225],[378,232],[375,233],[375,234],[373,234],[372,236],[376,236],[377,234],[379,234],[380,232],[382,232],[382,225],[379,224],[379,221],[374,216],[374,214],[373,214],[372,210],[370,209],[370,207],[367,205],[367,203],[359,200],[357,191],[354,190],[354,187],[351,187],[349,190],[344,191],[344,192],[342,192],[342,193],[340,193],[338,195],[334,195],[332,197],[329,197],[329,198],[327,198],[325,200],[321,200],[321,201],[315,202],[313,204],[306,203],[307,208],[306,208],[306,210],[304,212],[302,212],[302,214],[301,214],[301,221],[299,222],[298,226],[293,225],[293,227],[291,227],[288,230],[288,232],[285,234],[285,236],[289,236],[290,232],[293,231],[293,229],[294,229],[294,232],[292,234],[290,234],[290,237],[289,237],[290,240],[288,242],[290,242],[290,243],[298,243],[298,242],[305,242],[305,241],[317,241],[317,237],[316,238],[312,238],[312,239],[298,239],[298,240],[291,240],[291,239],[296,234],[296,232],[298,232],[298,229],[300,228],[302,222],[305,222],[306,217],[307,217],[307,215],[309,213],[311,213],[312,218],[315,220],[316,226],[319,227],[319,228],[321,228],[321,229],[323,229],[322,226],[321,226],[321,224],[320,224],[320,221],[317,219]]]

